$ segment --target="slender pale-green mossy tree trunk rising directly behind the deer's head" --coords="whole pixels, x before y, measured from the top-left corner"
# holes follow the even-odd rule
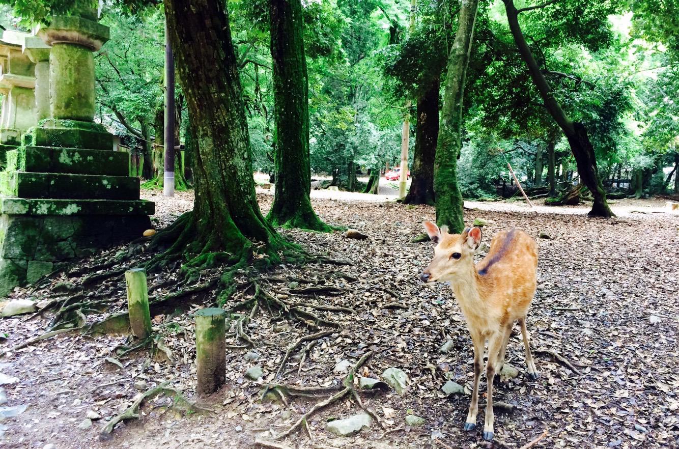
[[[436,221],[452,232],[462,232],[464,216],[462,194],[458,187],[457,166],[462,151],[462,99],[464,80],[474,35],[478,0],[462,1],[458,31],[448,57],[448,69],[441,109],[441,126],[434,162]]]

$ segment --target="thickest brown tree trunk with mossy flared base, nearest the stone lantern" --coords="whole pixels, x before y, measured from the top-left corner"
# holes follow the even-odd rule
[[[265,244],[272,259],[282,240],[255,197],[249,134],[226,3],[166,0],[177,74],[195,134],[196,200],[187,251],[225,251],[234,260]]]

